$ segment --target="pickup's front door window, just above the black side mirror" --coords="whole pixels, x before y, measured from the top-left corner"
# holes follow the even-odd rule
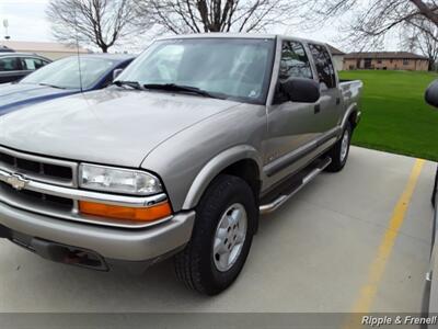
[[[298,42],[283,43],[279,80],[290,78],[313,78],[304,47]]]

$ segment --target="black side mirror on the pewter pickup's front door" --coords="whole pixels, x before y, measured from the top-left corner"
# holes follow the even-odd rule
[[[293,78],[280,82],[280,91],[297,103],[315,103],[321,97],[320,83],[311,79]]]

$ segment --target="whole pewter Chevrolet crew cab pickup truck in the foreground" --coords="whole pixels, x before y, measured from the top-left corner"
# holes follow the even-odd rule
[[[173,256],[188,287],[217,294],[260,214],[343,169],[361,88],[311,41],[160,38],[112,87],[0,117],[0,236],[103,271]]]

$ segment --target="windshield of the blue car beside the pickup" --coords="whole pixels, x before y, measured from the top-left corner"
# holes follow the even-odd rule
[[[115,66],[115,61],[106,58],[81,57],[81,73],[79,73],[78,57],[68,57],[54,61],[35,72],[28,75],[20,83],[35,83],[51,86],[62,89],[80,89],[80,78],[82,88],[93,87],[103,75]]]

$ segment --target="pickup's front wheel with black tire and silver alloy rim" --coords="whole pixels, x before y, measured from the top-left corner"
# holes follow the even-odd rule
[[[177,277],[207,295],[229,287],[250,252],[257,214],[254,193],[245,181],[217,177],[196,208],[191,241],[175,256]]]

